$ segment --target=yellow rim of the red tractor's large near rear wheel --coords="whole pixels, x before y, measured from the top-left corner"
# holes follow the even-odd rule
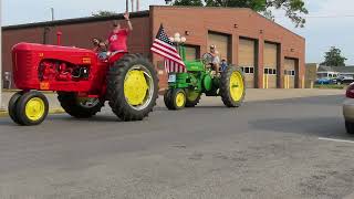
[[[142,105],[146,100],[148,88],[143,71],[133,70],[126,74],[124,81],[124,95],[129,105]]]

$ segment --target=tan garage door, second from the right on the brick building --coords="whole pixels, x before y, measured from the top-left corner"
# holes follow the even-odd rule
[[[278,45],[272,43],[264,44],[264,88],[277,88],[277,66],[278,66]]]

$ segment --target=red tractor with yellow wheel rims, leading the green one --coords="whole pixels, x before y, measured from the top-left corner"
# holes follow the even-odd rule
[[[154,65],[127,52],[100,56],[91,50],[19,43],[12,49],[13,77],[21,92],[9,102],[9,115],[19,125],[41,124],[54,91],[71,116],[88,118],[105,102],[122,121],[142,121],[156,105],[158,78]]]

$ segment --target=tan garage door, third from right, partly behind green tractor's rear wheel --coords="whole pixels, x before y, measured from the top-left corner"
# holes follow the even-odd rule
[[[254,41],[240,39],[239,43],[239,66],[242,69],[247,87],[254,87]]]

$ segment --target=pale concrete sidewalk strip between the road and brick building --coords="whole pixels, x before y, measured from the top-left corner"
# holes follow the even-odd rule
[[[15,92],[3,91],[2,93],[2,107],[7,111],[8,103],[11,96]],[[56,93],[44,93],[48,97],[51,113],[58,112],[61,108],[60,103],[56,98]],[[311,97],[311,96],[325,96],[325,95],[344,95],[345,90],[256,90],[249,88],[246,92],[246,102],[256,101],[270,101],[270,100],[285,100],[285,98],[296,98],[296,97]],[[200,105],[212,106],[222,105],[219,97],[202,97]],[[157,106],[164,107],[164,97],[159,96],[157,101]],[[0,113],[1,116],[1,113]]]

